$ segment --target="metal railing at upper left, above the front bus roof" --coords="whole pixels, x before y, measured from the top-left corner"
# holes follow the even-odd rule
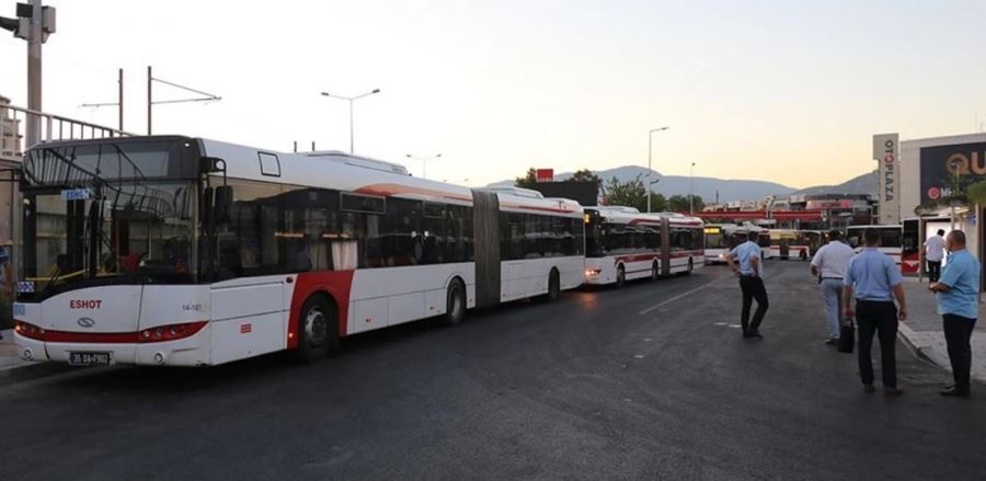
[[[37,122],[39,142],[135,135],[91,122],[46,114],[16,105],[0,104],[0,159],[14,161],[23,159],[24,149],[21,148],[21,139],[24,138],[24,133],[30,128],[31,122]],[[25,149],[27,147],[31,146],[24,146]]]

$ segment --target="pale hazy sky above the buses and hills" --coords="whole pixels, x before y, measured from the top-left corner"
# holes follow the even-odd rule
[[[528,167],[646,165],[803,187],[875,167],[871,136],[986,122],[986,1],[48,0],[46,111],[146,131],[146,66],[214,92],[154,107],[156,134],[394,161],[483,185]],[[11,16],[13,0],[0,1]],[[0,32],[0,94],[26,106],[23,41]],[[156,87],[156,99],[183,93]],[[421,165],[409,163],[420,175]],[[468,182],[465,181],[468,179]],[[660,188],[660,184],[658,184]]]

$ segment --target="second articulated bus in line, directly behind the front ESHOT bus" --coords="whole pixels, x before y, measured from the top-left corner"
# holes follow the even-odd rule
[[[690,274],[706,263],[702,226],[681,215],[586,207],[585,283],[620,287],[630,279]]]

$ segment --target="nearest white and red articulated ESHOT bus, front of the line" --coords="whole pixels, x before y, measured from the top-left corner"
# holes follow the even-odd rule
[[[22,357],[217,365],[582,284],[583,209],[340,152],[57,141],[22,171]]]

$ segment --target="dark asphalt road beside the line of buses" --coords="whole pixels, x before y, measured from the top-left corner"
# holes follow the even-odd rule
[[[0,479],[986,479],[986,387],[940,398],[949,376],[898,345],[906,394],[863,393],[805,264],[767,267],[764,341],[729,325],[737,283],[713,267],[354,336],[311,366],[7,386]]]

